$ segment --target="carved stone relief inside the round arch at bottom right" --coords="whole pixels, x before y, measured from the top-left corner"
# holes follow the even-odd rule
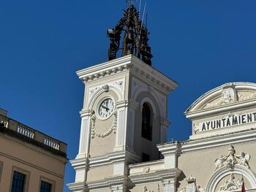
[[[219,188],[219,192],[221,191],[234,191],[241,190],[243,185],[243,179],[236,179],[234,174],[230,174],[229,180],[223,180],[222,185]]]

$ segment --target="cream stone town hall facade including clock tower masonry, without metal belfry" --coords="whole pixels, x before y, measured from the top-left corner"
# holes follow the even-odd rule
[[[132,55],[78,77],[86,88],[71,191],[241,191],[243,181],[256,191],[256,84],[227,83],[203,94],[185,112],[189,140],[166,142],[167,96],[176,82]],[[100,118],[105,99],[114,110]],[[144,103],[152,111],[151,141],[140,137]],[[142,162],[144,153],[150,161]]]

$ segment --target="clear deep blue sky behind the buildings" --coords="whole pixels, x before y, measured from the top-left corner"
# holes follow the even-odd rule
[[[69,159],[78,152],[83,104],[75,72],[106,61],[106,30],[126,7],[121,0],[0,1],[0,107],[67,142]],[[255,7],[255,0],[148,0],[153,66],[180,84],[170,94],[169,138],[188,139],[183,112],[206,91],[256,82]],[[65,183],[74,179],[67,164]]]

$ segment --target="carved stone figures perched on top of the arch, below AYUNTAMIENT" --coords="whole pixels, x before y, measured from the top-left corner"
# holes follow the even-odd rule
[[[241,155],[236,155],[236,150],[233,145],[230,145],[228,149],[228,155],[220,155],[214,161],[214,164],[217,169],[225,166],[228,169],[233,169],[236,164],[240,164],[241,166],[245,166],[249,169],[249,159],[250,155],[248,153],[242,152]]]

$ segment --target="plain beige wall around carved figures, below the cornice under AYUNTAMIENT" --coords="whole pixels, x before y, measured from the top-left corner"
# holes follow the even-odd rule
[[[233,145],[236,150],[236,155],[241,155],[241,152],[249,153],[249,155],[251,155],[249,166],[252,170],[256,170],[255,145],[255,142]],[[178,191],[181,191],[182,188],[187,186],[186,178],[190,175],[196,178],[198,185],[202,188],[206,188],[208,180],[216,170],[214,161],[219,158],[220,155],[228,155],[228,148],[228,145],[219,145],[219,147],[193,150],[178,156],[178,169],[182,170],[180,177],[178,177]],[[245,182],[246,186],[249,186],[249,183],[247,183],[246,180]]]

